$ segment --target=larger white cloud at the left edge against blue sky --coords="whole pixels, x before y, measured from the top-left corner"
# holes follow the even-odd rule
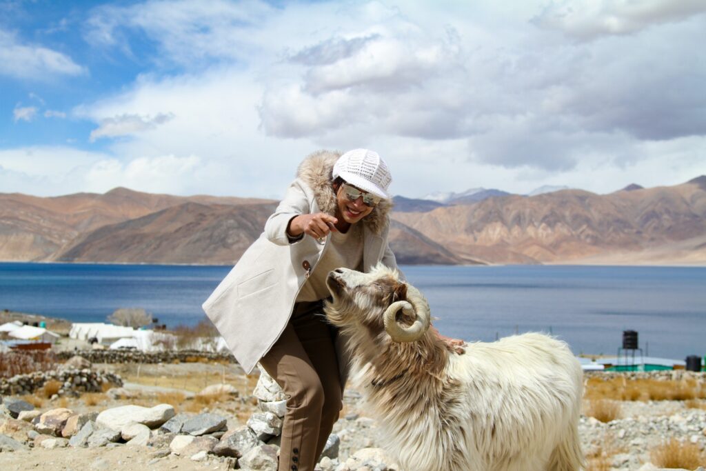
[[[48,76],[77,76],[85,68],[71,57],[47,47],[21,44],[15,35],[0,28],[0,74],[13,78],[45,81]]]

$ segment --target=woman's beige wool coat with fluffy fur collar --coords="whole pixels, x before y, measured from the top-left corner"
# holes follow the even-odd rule
[[[289,220],[300,214],[335,214],[331,174],[338,157],[340,153],[320,150],[301,162],[297,179],[265,223],[265,232],[203,303],[206,315],[247,373],[280,338],[299,290],[330,243],[330,235],[321,241],[306,235],[290,240],[286,230]],[[359,222],[364,271],[378,262],[397,268],[388,246],[391,208],[389,201],[381,201]]]

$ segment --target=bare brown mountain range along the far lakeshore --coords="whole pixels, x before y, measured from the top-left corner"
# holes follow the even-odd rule
[[[706,177],[393,213],[400,263],[706,263]],[[232,264],[276,202],[114,189],[0,193],[0,260]]]

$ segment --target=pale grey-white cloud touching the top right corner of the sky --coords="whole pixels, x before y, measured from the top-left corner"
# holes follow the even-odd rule
[[[702,0],[563,0],[551,3],[533,22],[580,40],[593,40],[640,32],[705,12]]]

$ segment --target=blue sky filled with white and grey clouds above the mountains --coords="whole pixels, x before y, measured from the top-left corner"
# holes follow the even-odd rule
[[[279,198],[357,147],[409,197],[679,184],[703,44],[705,0],[0,0],[0,192]]]

